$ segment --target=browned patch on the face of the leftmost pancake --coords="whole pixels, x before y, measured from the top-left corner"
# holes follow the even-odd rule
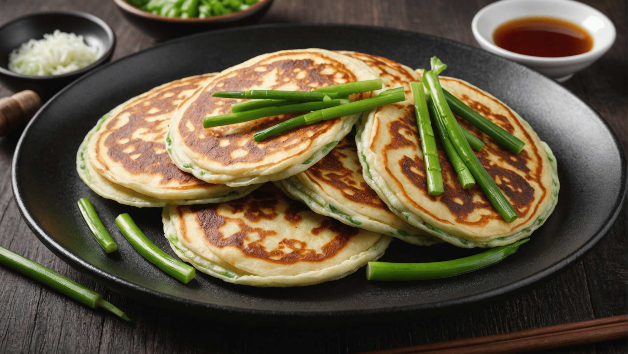
[[[161,184],[176,180],[181,184],[192,184],[188,188],[194,188],[197,185],[212,185],[181,171],[173,164],[163,142],[168,122],[162,119],[151,120],[153,117],[173,112],[176,108],[174,102],[181,99],[180,94],[186,90],[196,89],[200,80],[202,78],[197,77],[185,80],[184,85],[168,86],[166,90],[143,98],[117,113],[100,135],[109,133],[104,141],[109,157],[133,174],[163,175]],[[125,116],[128,116],[129,121],[122,127],[116,128],[119,120]],[[139,137],[136,137],[137,135]],[[144,140],[142,136],[150,140]]]

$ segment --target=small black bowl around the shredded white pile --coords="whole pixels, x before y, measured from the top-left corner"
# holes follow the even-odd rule
[[[58,29],[66,33],[82,34],[89,46],[98,48],[98,59],[77,71],[61,75],[33,76],[9,70],[9,53],[29,39],[42,39],[46,33]],[[111,60],[116,36],[111,27],[92,14],[79,11],[54,11],[21,16],[0,26],[0,82],[12,91],[33,90],[42,101],[88,71]]]

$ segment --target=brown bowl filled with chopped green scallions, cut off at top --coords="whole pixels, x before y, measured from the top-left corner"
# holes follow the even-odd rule
[[[259,20],[273,0],[113,0],[148,36],[164,40]]]

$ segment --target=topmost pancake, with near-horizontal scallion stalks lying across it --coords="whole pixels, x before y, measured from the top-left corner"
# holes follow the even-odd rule
[[[203,87],[177,108],[170,125],[170,154],[175,164],[198,179],[233,187],[280,180],[318,162],[350,132],[359,115],[338,117],[288,130],[259,143],[253,133],[302,113],[203,128],[203,117],[231,113],[241,100],[212,97],[215,91],[311,91],[340,83],[374,80],[362,61],[325,49],[295,49],[256,56],[206,79]],[[367,98],[370,92],[355,95]],[[305,113],[305,112],[303,112]]]

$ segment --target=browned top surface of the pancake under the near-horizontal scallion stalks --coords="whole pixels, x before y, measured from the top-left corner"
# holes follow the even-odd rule
[[[290,53],[282,53],[277,56],[289,55]],[[337,80],[341,82],[356,81],[354,73],[347,70],[342,63],[330,58],[326,58],[329,61],[328,63],[315,63],[310,59],[278,59],[273,61],[273,58],[275,56],[236,70],[230,73],[230,75],[220,76],[215,81],[212,81],[194,102],[190,103],[178,125],[181,137],[183,137],[188,148],[203,154],[208,160],[225,166],[241,162],[259,162],[269,154],[293,147],[300,147],[301,152],[296,154],[303,154],[308,150],[315,138],[328,132],[328,130],[340,122],[340,118],[324,120],[284,132],[261,143],[254,142],[252,137],[254,132],[271,127],[305,112],[260,118],[251,122],[204,129],[202,127],[203,117],[210,113],[212,115],[230,113],[230,104],[236,102],[233,99],[212,97],[212,93],[215,91],[250,90],[252,87],[263,83],[264,75],[272,74],[276,76],[274,85],[269,87],[269,89],[281,89],[287,82],[293,85],[296,84],[301,91],[311,91],[317,87],[335,85]],[[327,72],[330,73],[328,74]],[[190,130],[190,127],[192,127],[192,130]],[[221,140],[224,140],[222,145],[220,143]],[[227,141],[229,143],[226,143]],[[235,150],[239,150],[239,154],[232,155],[232,152]]]

